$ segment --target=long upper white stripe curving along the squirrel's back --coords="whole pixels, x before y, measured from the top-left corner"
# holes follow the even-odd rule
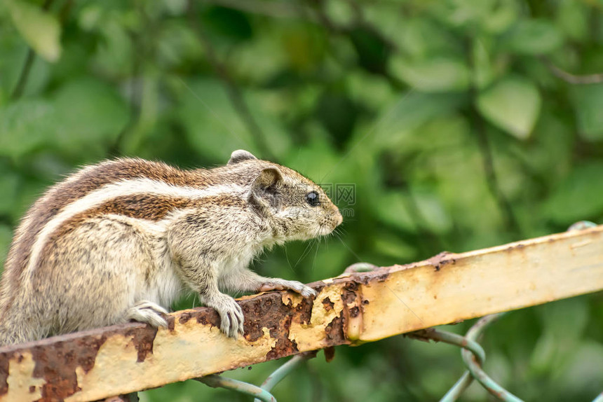
[[[86,194],[79,200],[75,200],[67,205],[61,212],[53,216],[48,223],[40,230],[36,236],[36,240],[32,246],[32,254],[29,256],[27,264],[27,272],[31,272],[37,264],[40,253],[48,242],[50,235],[60,226],[72,219],[77,214],[88,211],[102,205],[104,202],[112,200],[116,197],[124,197],[129,195],[160,195],[167,197],[186,197],[198,199],[204,197],[212,197],[215,195],[243,195],[245,188],[233,184],[219,184],[208,186],[207,188],[194,188],[187,186],[175,186],[163,181],[151,179],[131,179],[123,180],[118,183],[106,184],[91,193]]]

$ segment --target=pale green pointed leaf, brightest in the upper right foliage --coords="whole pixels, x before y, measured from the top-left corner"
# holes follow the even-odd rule
[[[477,109],[490,123],[518,139],[526,139],[538,119],[541,96],[526,78],[508,77],[477,97]]]

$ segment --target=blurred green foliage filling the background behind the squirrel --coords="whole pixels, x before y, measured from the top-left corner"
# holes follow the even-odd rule
[[[306,282],[356,261],[407,263],[600,222],[603,83],[592,74],[603,71],[602,8],[600,0],[4,1],[0,260],[44,188],[120,155],[198,167],[246,148],[326,185],[353,183],[354,202],[339,201],[346,219],[337,236],[255,264]],[[603,389],[602,339],[601,293],[549,303],[488,331],[486,368],[528,401],[586,401]],[[278,364],[228,375],[259,384]],[[275,394],[433,401],[461,372],[454,347],[397,337],[339,347],[331,363],[319,356]],[[248,400],[196,382],[141,398]],[[487,399],[477,386],[463,396]]]

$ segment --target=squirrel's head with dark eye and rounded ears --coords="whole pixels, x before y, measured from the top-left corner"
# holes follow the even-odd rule
[[[325,191],[293,169],[258,160],[248,151],[234,151],[229,165],[253,166],[247,197],[255,211],[267,219],[274,237],[308,240],[328,235],[343,218]]]

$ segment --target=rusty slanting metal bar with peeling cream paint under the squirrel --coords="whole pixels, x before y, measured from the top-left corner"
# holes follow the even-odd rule
[[[603,289],[603,226],[409,265],[348,272],[239,299],[245,335],[208,308],[156,331],[123,324],[0,348],[0,400],[93,401],[334,345],[482,317]]]

